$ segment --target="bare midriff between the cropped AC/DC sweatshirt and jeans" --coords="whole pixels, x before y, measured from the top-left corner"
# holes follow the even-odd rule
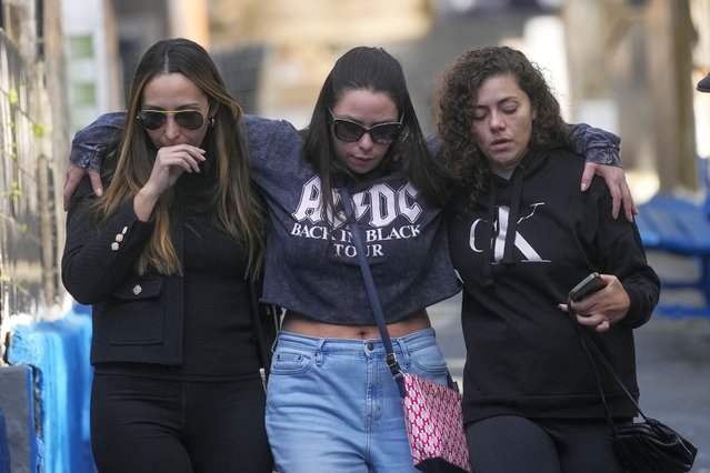
[[[387,331],[390,338],[394,339],[419,332],[430,326],[429,315],[426,310],[422,310],[388,324]],[[370,340],[381,338],[377,325],[340,325],[319,322],[293,311],[287,311],[281,329],[287,332],[319,339]]]

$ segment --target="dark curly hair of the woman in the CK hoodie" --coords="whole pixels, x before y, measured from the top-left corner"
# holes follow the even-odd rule
[[[489,47],[461,54],[444,72],[436,114],[443,162],[457,192],[471,202],[486,191],[490,175],[486,155],[473,137],[473,107],[483,82],[498,76],[512,76],[536,111],[530,149],[569,145],[570,130],[560,114],[560,104],[540,68],[522,52]]]

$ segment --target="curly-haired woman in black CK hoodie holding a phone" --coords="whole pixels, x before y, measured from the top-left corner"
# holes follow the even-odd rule
[[[456,181],[450,254],[463,282],[463,416],[471,465],[490,472],[621,473],[594,373],[572,323],[638,396],[632,329],[659,295],[636,224],[611,215],[569,150],[569,125],[540,70],[506,47],[470,51],[438,101],[441,153]],[[587,274],[606,288],[572,303]],[[606,373],[600,373],[606,374]],[[614,421],[636,409],[602,376]]]

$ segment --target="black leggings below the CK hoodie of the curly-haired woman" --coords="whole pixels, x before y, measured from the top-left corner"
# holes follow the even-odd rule
[[[499,415],[467,425],[476,473],[624,473],[601,420]]]

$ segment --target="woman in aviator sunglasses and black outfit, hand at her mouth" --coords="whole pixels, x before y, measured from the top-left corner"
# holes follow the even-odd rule
[[[141,59],[106,193],[84,179],[62,279],[93,308],[91,445],[101,472],[271,472],[257,281],[266,218],[242,112],[199,44]]]

